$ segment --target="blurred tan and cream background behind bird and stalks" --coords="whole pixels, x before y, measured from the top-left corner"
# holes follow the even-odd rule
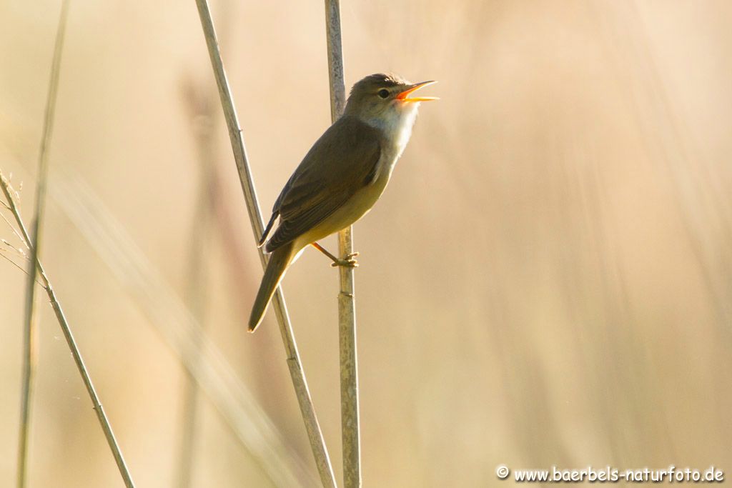
[[[349,86],[393,71],[439,80],[428,91],[442,99],[421,108],[355,228],[365,486],[497,486],[501,463],[731,476],[732,4],[341,9]],[[212,10],[269,217],[329,124],[324,7]],[[26,222],[58,13],[57,1],[0,4],[0,169],[24,183]],[[245,332],[261,268],[195,3],[72,1],[63,56],[42,260],[135,481],[179,484],[187,375],[160,333],[169,304],[125,283],[132,267],[111,268],[73,208],[103,207],[102,223],[130,236],[313,486],[274,316]],[[97,200],[70,201],[80,182]],[[18,246],[4,222],[0,237]],[[24,287],[0,260],[4,486]],[[340,479],[337,272],[306,252],[284,290]],[[122,486],[43,303],[29,486]],[[272,486],[211,399],[197,405],[191,486]]]

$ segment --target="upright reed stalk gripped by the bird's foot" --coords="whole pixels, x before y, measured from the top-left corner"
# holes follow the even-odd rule
[[[330,112],[332,121],[335,122],[343,114],[343,109],[346,107],[339,1],[325,0],[325,13],[330,79]],[[354,252],[352,227],[338,233],[338,252],[342,257]],[[343,484],[346,488],[354,488],[361,486],[356,296],[354,269],[348,266],[339,266],[339,269],[338,334],[340,337],[340,424],[343,438]]]

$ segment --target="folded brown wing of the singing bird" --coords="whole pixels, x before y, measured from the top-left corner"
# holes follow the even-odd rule
[[[296,239],[371,184],[381,157],[379,132],[359,119],[343,116],[305,155],[277,198],[280,225],[266,244],[272,252]]]

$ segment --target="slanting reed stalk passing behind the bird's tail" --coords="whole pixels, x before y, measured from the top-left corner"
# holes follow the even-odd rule
[[[234,108],[234,99],[231,95],[231,89],[228,86],[226,72],[223,61],[221,60],[221,53],[218,48],[216,31],[214,30],[209,4],[206,0],[196,0],[195,3],[198,6],[198,15],[201,18],[203,35],[206,37],[206,46],[209,50],[209,57],[211,58],[214,77],[216,78],[229,138],[231,139],[231,149],[234,151],[236,168],[239,170],[239,180],[242,184],[244,199],[247,202],[247,211],[249,212],[254,239],[258,241],[264,229],[264,224],[249,169],[247,151],[244,146],[244,138],[242,138],[242,129],[239,127],[239,119],[236,117],[236,109]],[[267,259],[264,253],[260,251],[259,257],[262,266],[266,266]],[[275,309],[275,315],[277,315],[277,322],[280,324],[280,333],[282,334],[285,353],[287,354],[287,364],[290,369],[290,376],[299,402],[302,419],[305,422],[307,437],[310,440],[310,447],[315,457],[315,465],[318,467],[318,473],[321,476],[324,487],[335,487],[333,468],[330,463],[320,424],[318,424],[318,418],[315,416],[315,408],[313,407],[313,400],[310,398],[310,390],[307,388],[305,372],[302,369],[290,318],[287,307],[285,306],[285,298],[282,289],[279,287],[275,292],[275,296],[272,298],[272,306]]]

